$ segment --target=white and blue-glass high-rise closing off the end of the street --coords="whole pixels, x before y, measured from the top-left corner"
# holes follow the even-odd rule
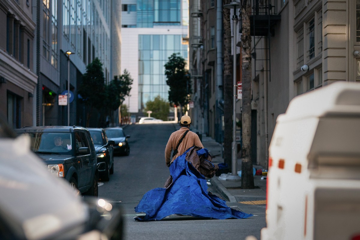
[[[186,0],[122,1],[121,69],[134,79],[129,105],[132,121],[143,117],[147,101],[168,100],[165,63],[173,53],[188,58]],[[171,118],[169,118],[171,119]]]

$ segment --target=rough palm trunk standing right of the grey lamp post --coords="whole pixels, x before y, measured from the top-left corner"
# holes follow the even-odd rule
[[[249,0],[244,0],[242,5],[243,31],[242,42],[242,81],[243,81],[243,106],[242,106],[242,164],[241,187],[253,189],[254,176],[251,160],[251,36]]]

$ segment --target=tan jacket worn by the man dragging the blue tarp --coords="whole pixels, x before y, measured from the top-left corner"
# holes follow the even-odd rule
[[[181,142],[179,148],[177,149],[177,154],[174,156],[174,158],[171,159],[171,150],[175,150],[177,143],[180,141],[181,137],[183,137],[186,130],[189,130],[187,127],[182,127],[179,130],[171,133],[169,140],[167,141],[166,148],[165,148],[165,162],[170,163],[174,161],[177,157],[179,157],[181,154],[185,153],[186,150],[191,148],[192,146],[198,146],[200,148],[204,148],[202,145],[199,136],[189,131],[186,133],[186,136],[184,137],[183,141]],[[170,160],[171,159],[171,160]]]

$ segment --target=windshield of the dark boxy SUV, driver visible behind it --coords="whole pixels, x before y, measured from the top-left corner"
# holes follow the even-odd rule
[[[69,154],[72,150],[71,133],[30,132],[31,150],[44,154]]]

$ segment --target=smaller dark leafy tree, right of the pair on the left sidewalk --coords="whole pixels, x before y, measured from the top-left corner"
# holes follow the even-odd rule
[[[130,95],[131,85],[134,80],[130,73],[125,69],[120,76],[114,76],[109,85],[105,86],[105,109],[114,123],[114,111],[122,105],[126,96]],[[120,108],[121,109],[121,108]],[[127,116],[127,115],[126,115]],[[121,116],[119,116],[121,117]]]

